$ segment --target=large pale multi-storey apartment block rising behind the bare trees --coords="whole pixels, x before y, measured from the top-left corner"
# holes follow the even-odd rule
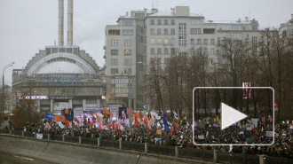
[[[283,28],[291,33],[287,24]],[[172,55],[190,55],[202,48],[210,64],[225,64],[226,59],[216,53],[218,44],[227,39],[257,44],[262,31],[255,19],[205,20],[201,14],[191,13],[188,6],[176,6],[169,12],[126,12],[116,25],[106,27],[107,104],[127,106],[129,83],[131,106],[140,109],[147,104],[144,74],[151,62],[164,66]]]

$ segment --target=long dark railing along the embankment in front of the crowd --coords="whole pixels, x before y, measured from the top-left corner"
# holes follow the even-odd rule
[[[35,132],[18,131],[0,129],[0,134],[14,135],[20,137],[37,138]],[[199,150],[193,148],[184,148],[178,146],[162,145],[162,144],[147,144],[137,142],[127,142],[120,140],[100,139],[99,137],[72,137],[65,135],[52,135],[44,133],[42,140],[53,140],[60,142],[68,142],[75,144],[90,144],[103,147],[112,147],[115,149],[131,150],[137,152],[162,154],[173,157],[180,157],[194,160],[212,161],[214,163],[229,163],[229,164],[291,164],[293,160],[270,157],[265,155],[249,155],[240,153],[219,152],[217,150]]]

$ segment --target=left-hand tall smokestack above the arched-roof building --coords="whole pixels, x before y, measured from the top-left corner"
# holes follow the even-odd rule
[[[64,0],[59,0],[59,27],[58,27],[58,37],[59,46],[64,45]]]

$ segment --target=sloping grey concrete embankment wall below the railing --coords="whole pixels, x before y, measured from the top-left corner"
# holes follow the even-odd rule
[[[0,135],[0,152],[9,152],[30,158],[55,163],[107,163],[107,164],[151,164],[151,163],[211,163],[187,160],[163,155],[148,155],[142,152],[125,151],[83,144],[38,140],[27,137]]]

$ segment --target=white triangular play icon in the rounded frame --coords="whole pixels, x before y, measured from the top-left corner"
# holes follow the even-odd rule
[[[241,121],[247,117],[246,114],[241,113],[224,103],[221,103],[221,109],[221,129],[226,129],[233,123]]]

